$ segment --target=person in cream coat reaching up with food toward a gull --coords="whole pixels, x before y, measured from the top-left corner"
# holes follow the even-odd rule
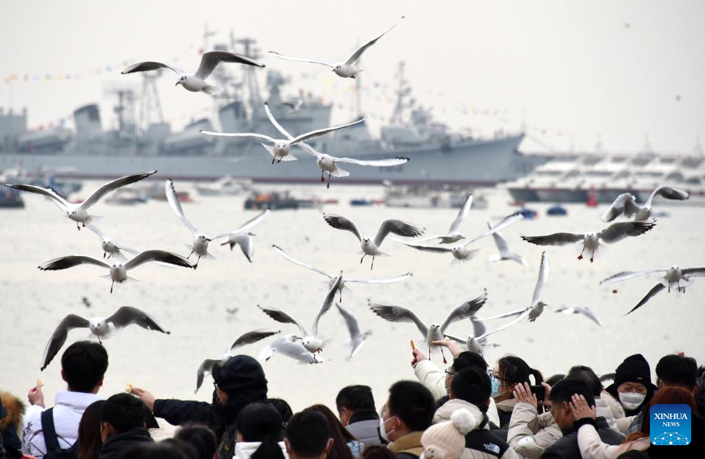
[[[477,367],[483,372],[486,372],[489,368],[489,365],[487,365],[487,362],[481,355],[472,351],[461,351],[458,344],[455,344],[455,341],[446,339],[443,341],[434,341],[434,344],[447,347],[448,351],[450,351],[450,354],[453,356],[453,363],[447,370],[439,369],[436,364],[431,362],[431,360],[417,349],[412,351],[413,360],[411,366],[414,368],[414,373],[416,377],[419,378],[419,382],[424,384],[424,387],[431,391],[431,394],[436,400],[443,396],[448,396],[450,382],[453,380],[453,375],[455,375],[456,372],[471,366]],[[494,397],[498,394],[499,382],[494,379],[494,377],[491,377],[491,381],[492,396]],[[493,398],[490,399],[487,415],[489,416],[491,425],[499,427],[499,415]]]

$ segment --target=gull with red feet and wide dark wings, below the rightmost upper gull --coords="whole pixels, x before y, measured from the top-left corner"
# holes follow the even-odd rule
[[[587,250],[591,252],[590,263],[592,263],[595,255],[599,255],[602,249],[606,249],[606,244],[613,244],[626,237],[641,236],[655,226],[656,220],[623,222],[613,223],[605,230],[599,232],[585,234],[553,233],[546,236],[522,236],[522,239],[537,246],[567,246],[568,244],[577,243],[578,248],[582,249],[577,259],[582,260],[582,254]]]

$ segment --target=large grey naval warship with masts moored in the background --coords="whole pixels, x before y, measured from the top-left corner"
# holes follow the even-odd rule
[[[230,46],[215,49],[236,50],[244,44],[247,56],[257,56],[253,39],[231,39]],[[314,184],[320,170],[314,158],[301,149],[292,153],[298,161],[271,164],[271,157],[254,139],[211,137],[200,130],[257,132],[281,137],[266,118],[264,101],[283,127],[300,134],[331,125],[332,103],[323,103],[312,94],[284,99],[288,79],[276,70],[267,70],[266,99],[255,72],[247,65],[221,65],[212,75],[223,92],[213,98],[214,116],[194,120],[180,132],[164,122],[157,92],[157,72],[142,74],[141,90],[115,89],[114,113],[117,127],[103,130],[97,104],[73,112],[75,130],[55,127],[27,131],[26,111],[0,111],[0,170],[56,170],[60,177],[106,178],[139,170],[157,169],[161,176],[178,180],[215,180],[229,175],[253,182]],[[496,134],[482,139],[451,132],[435,122],[429,110],[417,106],[400,63],[396,106],[390,122],[375,138],[366,122],[310,142],[323,153],[361,160],[395,156],[410,161],[390,168],[350,165],[351,175],[343,184],[440,184],[444,186],[494,186],[514,180],[548,161],[525,156],[517,150],[523,134]],[[357,112],[360,108],[360,79]],[[355,118],[357,119],[357,118]],[[114,123],[113,123],[114,124]],[[335,180],[335,179],[334,179]]]

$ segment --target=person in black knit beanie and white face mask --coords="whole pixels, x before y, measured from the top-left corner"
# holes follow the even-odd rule
[[[614,382],[605,389],[608,394],[618,399],[624,408],[626,417],[617,423],[620,432],[627,432],[634,416],[639,414],[643,406],[649,404],[656,389],[658,388],[651,384],[649,362],[646,362],[642,354],[629,356],[620,363],[615,370]]]

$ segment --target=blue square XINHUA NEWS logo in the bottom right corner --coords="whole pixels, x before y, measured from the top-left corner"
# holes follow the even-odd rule
[[[690,407],[683,404],[656,404],[649,410],[649,436],[652,445],[689,445]]]

